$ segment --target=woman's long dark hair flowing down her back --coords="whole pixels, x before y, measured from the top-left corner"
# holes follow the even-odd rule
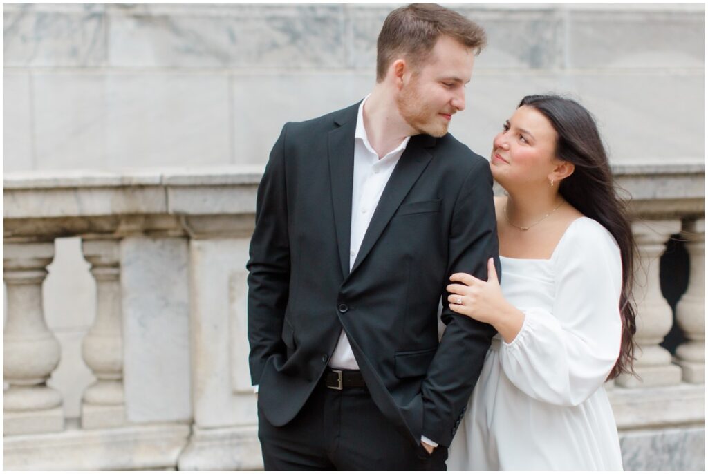
[[[593,116],[574,100],[559,96],[526,96],[526,105],[541,112],[552,123],[558,141],[556,156],[575,165],[573,174],[561,181],[559,192],[573,207],[602,224],[619,245],[622,257],[622,345],[608,379],[633,374],[636,308],[632,298],[635,243],[627,217],[627,203],[617,195],[610,163]]]

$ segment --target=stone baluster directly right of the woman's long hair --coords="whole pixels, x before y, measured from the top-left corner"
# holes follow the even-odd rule
[[[634,272],[637,345],[634,371],[622,374],[617,385],[624,387],[668,386],[681,381],[681,369],[671,363],[671,354],[659,344],[673,325],[671,307],[661,294],[659,258],[670,236],[680,231],[680,221],[639,221],[632,225],[639,248],[639,266]]]

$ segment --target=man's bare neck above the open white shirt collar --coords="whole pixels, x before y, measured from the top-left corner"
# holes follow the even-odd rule
[[[362,116],[369,144],[379,158],[396,149],[406,137],[417,134],[401,117],[394,93],[385,90],[380,83],[364,103]]]

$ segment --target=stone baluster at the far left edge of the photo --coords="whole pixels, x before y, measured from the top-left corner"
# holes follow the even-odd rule
[[[61,357],[59,341],[47,328],[42,305],[46,267],[54,243],[4,243],[3,279],[7,319],[3,333],[3,434],[60,432],[62,395],[47,386]]]

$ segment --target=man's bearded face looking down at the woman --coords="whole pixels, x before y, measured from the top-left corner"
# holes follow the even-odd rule
[[[472,49],[441,36],[417,74],[404,74],[404,86],[396,96],[401,117],[418,133],[445,135],[452,115],[464,110],[464,86],[473,65]]]

